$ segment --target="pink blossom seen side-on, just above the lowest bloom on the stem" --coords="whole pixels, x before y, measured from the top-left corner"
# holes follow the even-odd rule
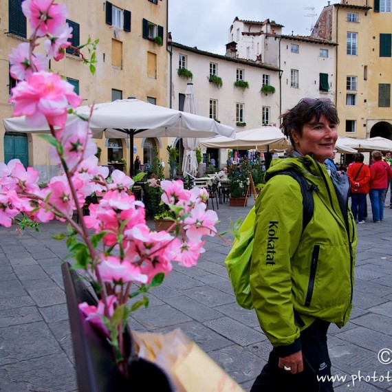
[[[126,282],[146,283],[147,276],[140,273],[140,267],[128,260],[108,256],[97,265],[102,281],[122,285]]]

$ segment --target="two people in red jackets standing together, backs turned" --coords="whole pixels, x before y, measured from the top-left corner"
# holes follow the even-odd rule
[[[364,164],[364,155],[356,153],[353,163],[349,164],[347,169],[351,184],[351,210],[353,216],[358,219],[358,224],[364,224],[367,217],[368,193],[373,222],[380,223],[384,220],[384,202],[392,179],[391,151],[386,152],[384,157],[380,151],[373,151],[371,160],[369,168]],[[392,197],[389,208],[392,208]]]

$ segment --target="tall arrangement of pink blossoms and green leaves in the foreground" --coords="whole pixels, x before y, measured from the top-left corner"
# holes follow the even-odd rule
[[[197,263],[204,252],[202,238],[217,234],[217,215],[206,208],[208,194],[204,190],[185,190],[182,181],[163,180],[160,199],[173,213],[175,232],[149,228],[144,204],[132,194],[133,184],[144,173],[132,179],[116,170],[108,177],[109,168],[98,166],[89,118],[66,125],[67,113],[72,113],[82,98],[67,80],[47,71],[50,59],[60,60],[71,45],[66,7],[54,1],[27,0],[22,10],[32,35],[10,55],[10,73],[19,80],[10,102],[14,116],[24,115],[28,124],[46,123],[50,127],[50,135],[43,137],[50,143],[50,156],[61,174],[40,188],[39,173],[34,168],[24,168],[19,160],[0,162],[0,224],[10,227],[20,217],[25,226],[36,227],[53,219],[67,223],[65,233],[56,239],[67,241],[69,257],[74,259],[72,270],[80,271],[95,292],[91,303],[69,309],[70,318],[73,315],[87,325],[88,329],[78,330],[79,334],[94,334],[98,350],[94,356],[99,356],[104,346],[111,353],[109,366],[95,369],[96,373],[107,381],[107,373],[116,370],[130,390],[129,314],[148,305],[146,292],[163,281],[172,263],[185,267]],[[41,39],[46,40],[40,45],[45,54],[35,52]],[[95,43],[89,40],[91,59],[85,59],[91,70],[96,62]],[[82,47],[86,45],[74,50],[80,52]],[[101,198],[98,204],[90,204],[89,215],[83,216],[82,206],[93,192]],[[79,224],[72,219],[74,210]],[[131,298],[140,299],[130,303]],[[83,351],[84,347],[76,344],[78,336],[74,331],[72,334],[75,351]],[[86,375],[78,364],[76,356],[80,390],[86,390],[82,386]],[[112,390],[123,390],[114,384]]]

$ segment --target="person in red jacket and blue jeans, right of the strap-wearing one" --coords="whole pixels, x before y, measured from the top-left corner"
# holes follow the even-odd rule
[[[378,224],[384,220],[384,193],[388,181],[392,177],[392,169],[382,160],[380,151],[371,153],[373,163],[370,165],[370,202],[373,222]]]

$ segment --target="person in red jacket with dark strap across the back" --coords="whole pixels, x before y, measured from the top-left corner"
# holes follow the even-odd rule
[[[358,224],[364,224],[364,208],[370,181],[370,169],[363,160],[363,154],[354,154],[354,162],[347,169],[351,184],[351,210],[356,220],[358,215]]]

